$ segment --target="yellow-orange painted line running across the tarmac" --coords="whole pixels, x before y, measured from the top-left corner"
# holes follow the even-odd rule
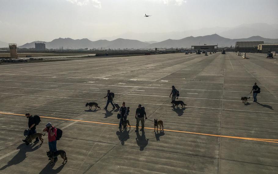
[[[8,113],[8,112],[0,112],[0,114],[20,115],[20,116],[23,115],[23,116],[25,116],[24,114],[14,114],[14,113]],[[85,123],[96,123],[96,124],[106,124],[106,125],[119,126],[119,124],[115,124],[115,123],[102,123],[102,122],[85,121],[85,120],[76,120],[76,119],[62,119],[62,118],[46,117],[46,116],[40,116],[40,117],[41,117],[41,118],[48,118],[48,119],[60,119],[60,120],[67,120],[67,121],[79,121],[79,122],[85,122]],[[130,127],[136,127],[136,126],[130,126]],[[151,127],[144,127],[144,129],[152,129],[152,130],[154,130],[154,128],[151,128]],[[179,133],[186,133],[186,134],[206,135],[206,136],[214,136],[214,137],[225,137],[225,138],[243,139],[243,140],[252,140],[252,141],[261,141],[261,142],[278,143],[278,139],[263,139],[263,138],[234,137],[234,136],[215,135],[215,134],[204,134],[204,133],[198,133],[198,132],[188,132],[188,131],[170,130],[170,129],[164,129],[164,131],[179,132]]]

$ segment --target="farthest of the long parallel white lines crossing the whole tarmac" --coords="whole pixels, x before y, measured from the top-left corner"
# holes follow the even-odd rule
[[[131,80],[131,79],[129,79]],[[136,79],[137,80],[137,79]],[[20,81],[20,80],[0,80],[0,81]],[[98,84],[84,84],[84,83],[62,83],[62,82],[44,82],[44,81],[20,81],[20,82],[35,82],[35,83],[54,83],[54,84],[69,84],[69,85],[96,85],[96,86],[116,86],[116,87],[126,87],[126,88],[153,88],[153,89],[172,89],[172,88],[161,88],[161,87],[147,87],[147,86],[123,86],[123,85],[98,85]],[[157,85],[160,86],[160,85]],[[217,91],[222,92],[222,90],[209,90],[209,89],[182,89],[179,90],[193,90],[193,91]],[[224,91],[232,93],[250,93],[246,91]],[[278,94],[278,93],[261,93],[261,94]]]

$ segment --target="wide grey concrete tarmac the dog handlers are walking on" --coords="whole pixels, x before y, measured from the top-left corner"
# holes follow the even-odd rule
[[[277,173],[278,61],[247,58],[178,53],[0,66],[0,173]],[[170,107],[172,85],[185,108]],[[130,107],[130,129],[118,128],[119,110],[102,109],[108,89]],[[85,107],[94,100],[101,110]],[[138,104],[164,131],[146,120],[134,132]],[[41,146],[21,141],[27,112],[41,116],[38,132],[48,122],[63,130],[65,165],[58,157],[50,166],[47,137]]]

